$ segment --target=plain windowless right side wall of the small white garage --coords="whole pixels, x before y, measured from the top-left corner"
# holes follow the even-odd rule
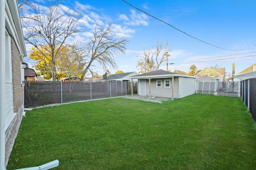
[[[195,78],[179,77],[179,96],[184,98],[195,93]]]

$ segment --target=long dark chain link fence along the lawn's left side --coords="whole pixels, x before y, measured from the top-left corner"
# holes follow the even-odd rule
[[[138,94],[137,82],[25,82],[25,107]]]

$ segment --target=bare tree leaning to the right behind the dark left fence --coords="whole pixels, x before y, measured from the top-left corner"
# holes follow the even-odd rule
[[[111,24],[104,29],[99,26],[98,21],[92,39],[78,49],[84,63],[80,80],[82,81],[88,71],[91,72],[91,69],[96,65],[103,70],[118,68],[114,58],[125,54],[127,43],[128,37],[117,38],[117,35],[112,31]]]

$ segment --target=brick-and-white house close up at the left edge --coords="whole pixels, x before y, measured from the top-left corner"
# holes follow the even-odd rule
[[[24,112],[26,47],[17,0],[0,1],[0,169],[5,169]]]

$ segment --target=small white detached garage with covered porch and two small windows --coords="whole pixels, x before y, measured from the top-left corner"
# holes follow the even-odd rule
[[[138,79],[138,94],[164,98],[183,98],[195,93],[195,76],[156,70],[132,76]]]

